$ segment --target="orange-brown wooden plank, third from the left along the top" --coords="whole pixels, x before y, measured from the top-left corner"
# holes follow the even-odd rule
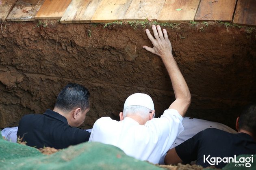
[[[71,0],[45,0],[35,19],[61,19]]]

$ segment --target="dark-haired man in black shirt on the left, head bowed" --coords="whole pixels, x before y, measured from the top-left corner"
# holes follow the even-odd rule
[[[90,93],[84,86],[69,83],[62,89],[53,110],[22,117],[17,136],[36,148],[63,149],[89,140],[90,132],[77,128],[90,110]]]

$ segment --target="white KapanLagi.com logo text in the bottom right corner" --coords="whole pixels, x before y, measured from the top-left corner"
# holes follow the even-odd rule
[[[253,163],[253,155],[252,157],[239,157],[239,159],[236,159],[236,155],[234,157],[210,157],[208,155],[207,157],[204,155],[204,163],[208,162],[210,165],[218,165],[219,163],[237,163],[237,164],[245,164],[245,167],[250,168],[251,163]],[[236,164],[236,165],[237,165]],[[235,165],[235,166],[236,166]]]

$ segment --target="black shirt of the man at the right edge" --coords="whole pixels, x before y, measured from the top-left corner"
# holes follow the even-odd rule
[[[245,133],[231,134],[223,130],[209,128],[178,145],[175,150],[185,164],[197,160],[196,164],[204,168],[211,166],[210,164],[215,164],[216,168],[223,168],[227,163],[221,161],[217,165],[217,162],[210,161],[210,158],[234,158],[234,155],[256,154],[256,142],[252,136]],[[208,157],[208,155],[210,156]]]

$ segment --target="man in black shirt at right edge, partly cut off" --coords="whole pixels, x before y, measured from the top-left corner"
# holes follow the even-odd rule
[[[215,128],[203,130],[169,150],[165,164],[189,164],[196,160],[204,168],[212,165],[223,168],[228,162],[239,162],[236,157],[242,154],[249,157],[240,163],[252,163],[251,156],[256,154],[256,104],[247,106],[236,119],[236,130],[237,134]]]

